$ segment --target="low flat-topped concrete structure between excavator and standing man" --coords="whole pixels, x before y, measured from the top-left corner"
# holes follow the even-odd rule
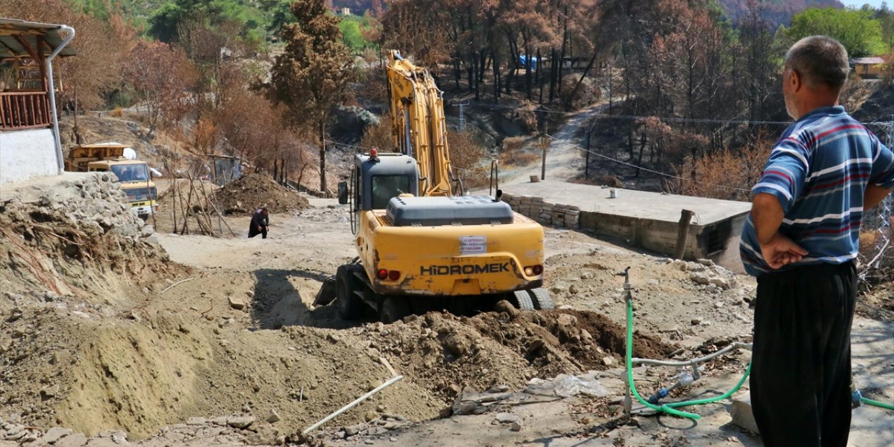
[[[738,237],[751,205],[746,202],[611,189],[563,181],[536,181],[502,188],[517,212],[540,223],[591,230],[672,255],[680,213],[695,213],[684,257],[710,258],[742,272]],[[577,222],[575,222],[577,221]]]

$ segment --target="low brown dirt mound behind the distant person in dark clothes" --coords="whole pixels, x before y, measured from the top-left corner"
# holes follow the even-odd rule
[[[308,200],[287,190],[261,173],[243,175],[217,191],[225,215],[250,215],[264,205],[274,214],[291,213],[309,207]]]

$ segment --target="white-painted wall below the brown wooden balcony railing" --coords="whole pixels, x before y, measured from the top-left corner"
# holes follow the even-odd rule
[[[57,173],[53,131],[0,132],[0,184]]]

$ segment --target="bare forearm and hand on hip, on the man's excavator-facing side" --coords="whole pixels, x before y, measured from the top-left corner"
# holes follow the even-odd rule
[[[807,254],[807,250],[779,232],[784,217],[779,199],[766,192],[755,195],[751,219],[755,223],[757,243],[761,246],[763,260],[774,269],[800,261]]]

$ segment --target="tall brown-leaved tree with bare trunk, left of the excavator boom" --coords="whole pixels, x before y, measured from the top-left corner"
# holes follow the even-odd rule
[[[350,100],[354,77],[350,50],[342,42],[339,20],[325,0],[295,0],[295,22],[283,28],[285,53],[271,72],[271,97],[289,107],[293,124],[318,132],[320,190],[326,188],[326,127],[334,105]]]

